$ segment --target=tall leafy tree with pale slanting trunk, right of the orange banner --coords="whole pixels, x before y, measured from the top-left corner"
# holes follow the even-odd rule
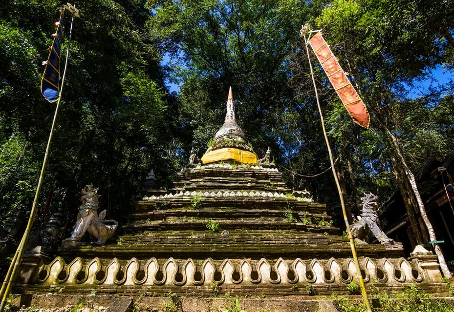
[[[337,55],[342,57],[344,68],[368,103],[372,128],[380,133],[378,138],[385,148],[382,155],[388,157],[392,165],[397,184],[408,204],[409,216],[414,218],[420,213],[430,240],[435,240],[408,159],[419,158],[418,162],[423,160],[423,163],[428,160],[425,156],[443,156],[435,151],[448,151],[444,148],[447,137],[440,128],[434,127],[436,122],[426,118],[428,115],[435,117],[434,107],[440,103],[443,90],[427,98],[411,100],[406,88],[413,79],[425,78],[427,70],[442,64],[452,46],[447,44],[449,40],[440,39],[441,34],[449,35],[449,28],[427,27],[424,32],[425,23],[430,19],[425,16],[427,12],[422,11],[419,13],[424,16],[414,16],[416,11],[403,1],[392,4],[388,1],[333,1],[316,22],[317,26],[324,28],[328,41],[343,42]],[[451,11],[440,14],[438,19],[443,24]],[[415,19],[422,25],[415,27]],[[440,32],[440,29],[444,30]],[[333,126],[339,127],[339,123]],[[411,140],[415,137],[419,138],[419,146],[411,148],[414,145]],[[412,223],[416,224],[415,220]],[[425,231],[421,229],[420,233],[417,240],[426,242]],[[438,246],[435,246],[435,251],[444,274],[450,275]]]

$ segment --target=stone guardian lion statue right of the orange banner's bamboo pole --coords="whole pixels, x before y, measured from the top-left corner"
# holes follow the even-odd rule
[[[379,226],[380,220],[376,213],[378,196],[373,195],[372,193],[365,193],[364,195],[364,197],[361,197],[361,200],[363,201],[363,211],[361,212],[361,215],[357,216],[359,221],[350,225],[355,241],[359,244],[367,244],[368,234],[372,233],[380,243],[394,245],[394,240],[389,238]]]

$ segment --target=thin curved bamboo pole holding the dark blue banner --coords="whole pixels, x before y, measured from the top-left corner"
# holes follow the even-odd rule
[[[30,216],[28,218],[27,227],[25,228],[25,232],[24,232],[24,234],[22,236],[21,242],[19,243],[18,249],[16,250],[16,253],[14,254],[14,257],[13,257],[13,259],[11,261],[11,265],[9,266],[8,272],[6,273],[5,280],[3,281],[3,284],[1,285],[1,290],[0,290],[0,298],[1,298],[0,312],[3,312],[3,310],[5,308],[5,305],[6,305],[6,302],[7,302],[7,298],[9,296],[9,293],[11,292],[11,288],[13,286],[13,282],[14,282],[14,280],[16,278],[17,271],[19,270],[19,267],[21,265],[22,255],[23,255],[23,253],[25,251],[25,246],[27,244],[28,236],[30,234],[33,222],[35,221],[35,217],[36,217],[36,215],[38,213],[38,208],[37,208],[38,199],[40,197],[41,189],[43,187],[44,174],[45,174],[45,169],[46,169],[46,165],[47,165],[47,160],[49,158],[50,145],[52,143],[52,137],[54,135],[54,129],[55,129],[55,125],[57,123],[57,116],[58,116],[58,112],[60,110],[60,101],[62,99],[63,86],[64,86],[64,83],[65,83],[65,74],[66,74],[66,67],[68,65],[69,44],[71,43],[71,32],[72,32],[73,21],[74,21],[74,14],[72,15],[71,26],[70,26],[70,29],[69,29],[69,39],[68,39],[68,46],[67,46],[67,49],[66,49],[65,69],[63,71],[62,84],[61,84],[61,87],[60,87],[60,97],[58,98],[57,106],[55,107],[54,119],[52,121],[52,126],[50,128],[49,138],[47,140],[46,151],[44,153],[43,166],[41,168],[41,174],[40,174],[40,178],[38,180],[38,186],[36,188],[35,198],[33,200],[32,209],[30,211]]]

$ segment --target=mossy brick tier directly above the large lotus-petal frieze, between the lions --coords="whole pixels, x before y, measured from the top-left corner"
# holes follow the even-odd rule
[[[289,232],[290,233],[290,232]],[[135,235],[120,235],[116,241],[104,246],[84,243],[61,248],[59,254],[72,260],[74,255],[84,258],[115,257],[138,259],[150,257],[183,258],[278,258],[281,255],[295,258],[328,259],[351,256],[351,249],[342,236],[313,233],[273,234],[256,230],[253,233],[229,231],[226,234],[213,232],[143,232]],[[358,245],[357,253],[368,257],[398,257],[402,245]]]

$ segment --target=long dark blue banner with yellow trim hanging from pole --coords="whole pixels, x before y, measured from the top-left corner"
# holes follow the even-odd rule
[[[63,13],[61,10],[60,20],[56,22],[57,32],[53,34],[53,42],[49,47],[49,57],[45,62],[43,78],[41,79],[41,93],[49,102],[55,102],[60,98],[60,51],[63,39]]]

